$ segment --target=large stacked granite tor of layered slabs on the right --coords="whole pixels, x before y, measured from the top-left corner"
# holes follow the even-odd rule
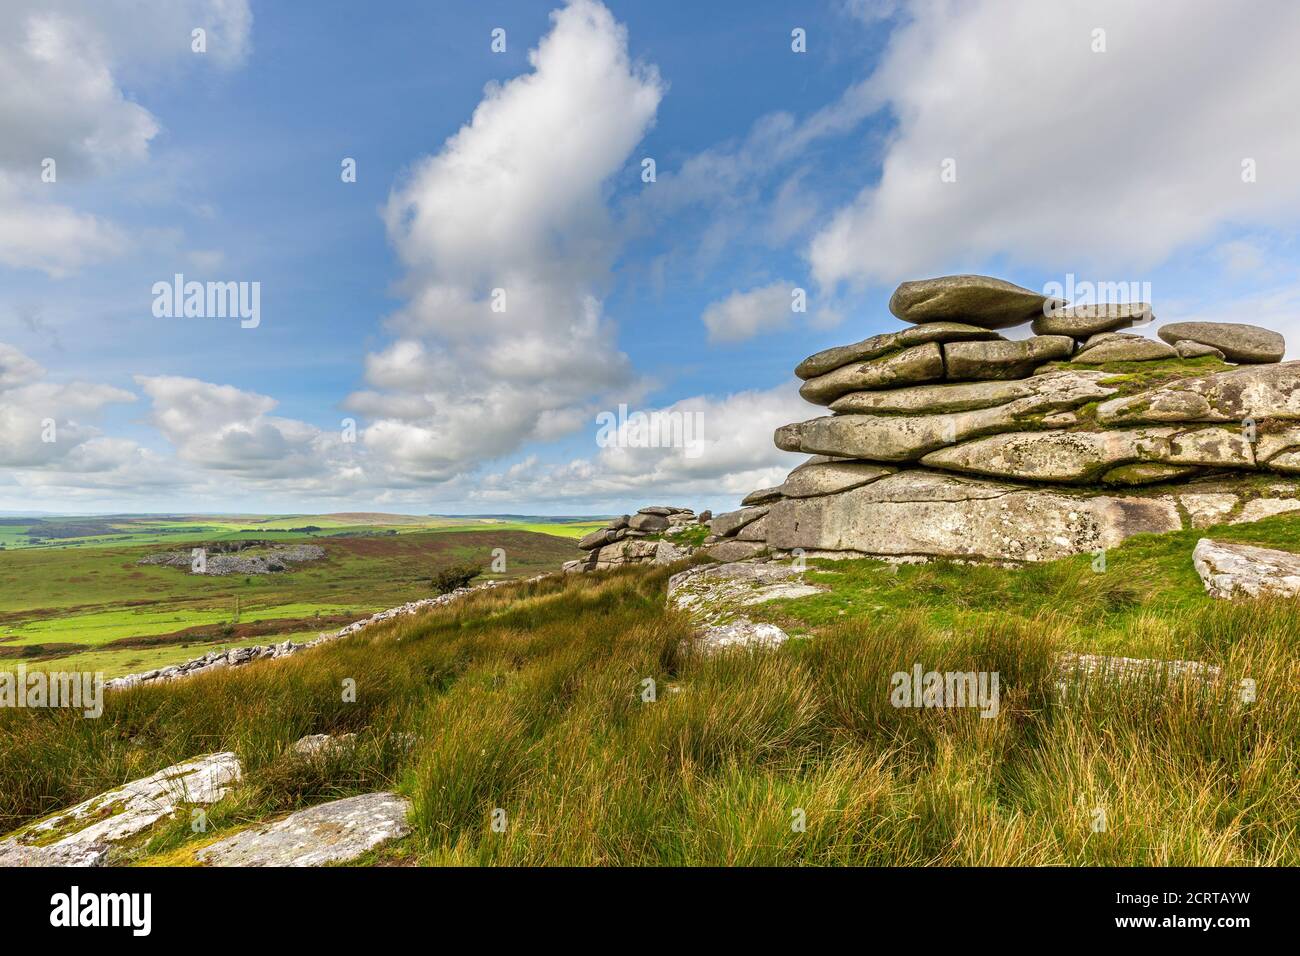
[[[889,308],[913,326],[796,368],[832,414],[776,445],[812,458],[714,518],[710,554],[1043,561],[1300,509],[1300,362],[1275,332],[1175,323],[1156,341],[1123,332],[1148,303],[983,276],[904,282]]]

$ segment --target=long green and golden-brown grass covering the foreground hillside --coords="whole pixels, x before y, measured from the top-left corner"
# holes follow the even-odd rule
[[[1297,529],[1214,536],[1294,546]],[[395,787],[413,832],[368,862],[1296,865],[1300,602],[1199,594],[1195,537],[1135,538],[1101,575],[1082,559],[823,566],[810,576],[833,593],[763,606],[806,639],[712,658],[684,652],[689,622],[664,609],[672,567],[500,588],[285,662],[109,695],[98,721],[0,711],[0,830],[234,749],[247,779],[213,829],[177,821],[133,858],[186,864],[252,822]],[[1067,649],[1169,652],[1225,676],[1061,700]],[[1000,715],[894,709],[889,678],[915,662],[997,671]],[[359,747],[286,756],[316,732]]]

